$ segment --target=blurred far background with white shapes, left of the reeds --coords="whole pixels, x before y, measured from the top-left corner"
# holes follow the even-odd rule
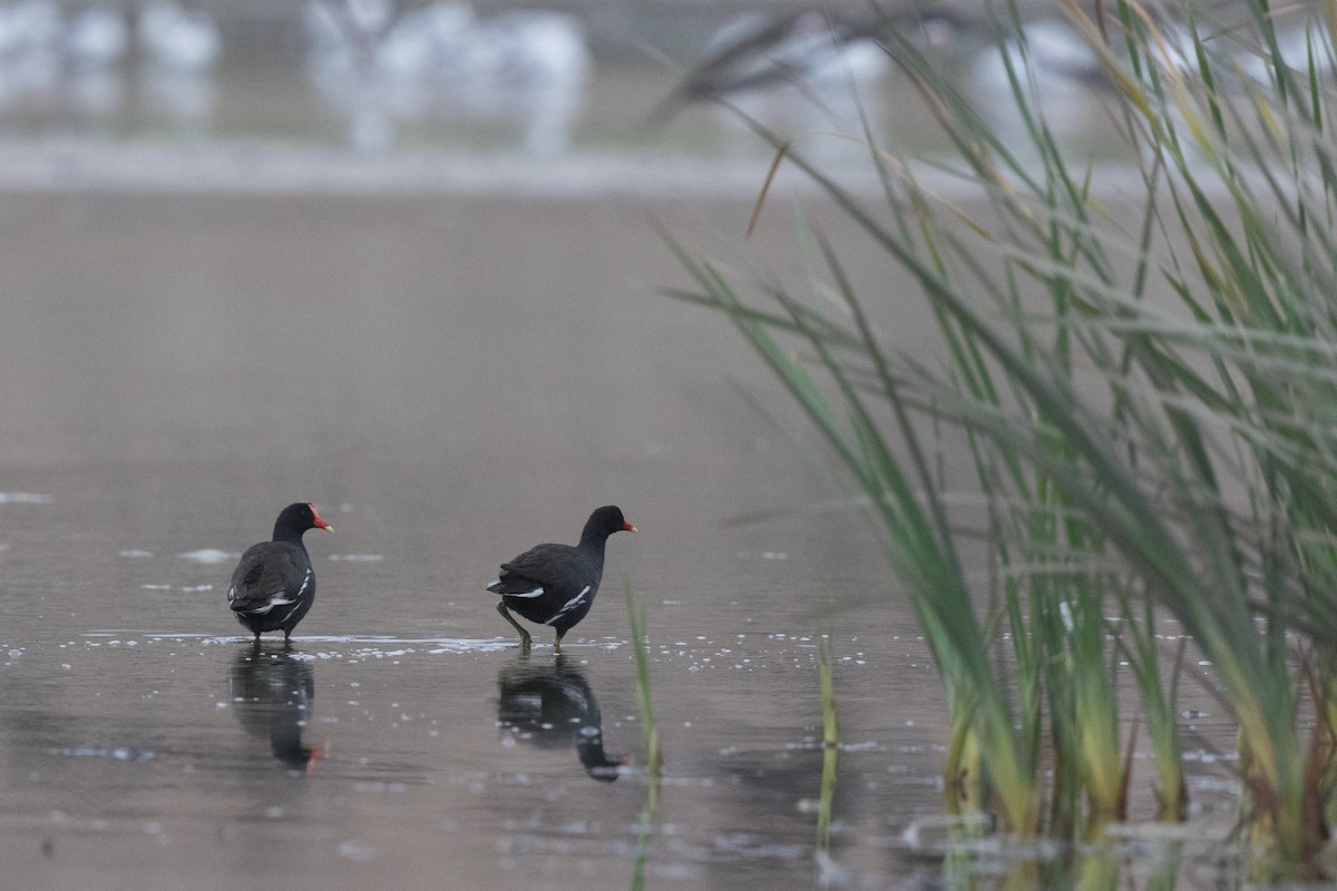
[[[677,79],[794,13],[778,1],[8,0],[0,123],[11,136],[213,135],[358,150],[681,146],[691,142],[682,132],[648,127]],[[820,37],[822,13],[809,9],[804,28],[809,41]],[[865,51],[853,73],[888,69]]]

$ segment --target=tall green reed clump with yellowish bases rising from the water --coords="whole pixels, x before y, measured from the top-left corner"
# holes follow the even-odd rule
[[[1008,94],[988,118],[886,20],[945,154],[865,124],[860,191],[753,122],[854,234],[801,223],[809,281],[759,287],[670,236],[674,294],[737,326],[876,520],[945,688],[949,808],[1098,834],[1144,728],[1158,816],[1183,819],[1194,648],[1239,725],[1249,838],[1305,875],[1337,779],[1337,9],[1052,7],[1102,84],[1099,158],[1047,116],[1060,75],[1015,4],[981,25]],[[905,287],[857,289],[844,239]],[[932,346],[900,334],[912,298]]]

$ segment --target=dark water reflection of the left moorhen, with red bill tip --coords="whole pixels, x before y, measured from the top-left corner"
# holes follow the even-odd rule
[[[302,745],[316,700],[316,669],[298,655],[290,647],[249,644],[233,659],[227,680],[233,712],[242,728],[269,740],[279,763],[310,772],[325,751]]]

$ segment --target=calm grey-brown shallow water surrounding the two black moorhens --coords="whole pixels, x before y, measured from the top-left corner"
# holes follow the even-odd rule
[[[24,146],[51,163],[5,148]],[[447,176],[414,195],[337,170],[191,188],[199,155],[172,156],[185,174],[158,191],[98,179],[115,152],[82,144],[66,170],[88,179],[3,178],[13,887],[618,888],[640,855],[647,887],[683,888],[991,887],[1038,854],[1068,880],[1091,868],[1005,842],[964,872],[944,860],[941,689],[894,580],[857,517],[808,509],[829,493],[739,394],[778,391],[734,333],[654,293],[685,277],[652,219],[793,274],[781,199],[745,240],[746,190]],[[384,164],[421,166],[404,158]],[[759,182],[765,163],[741,170]],[[846,259],[886,287],[874,254]],[[227,580],[297,498],[336,526],[308,534],[317,602],[290,649],[257,649]],[[640,534],[610,541],[562,657],[545,629],[524,656],[483,585],[608,502]],[[627,585],[664,751],[644,846]],[[822,635],[842,739],[829,860]],[[1183,705],[1198,850],[1091,855],[1130,882],[1219,878],[1206,840],[1234,804],[1233,728],[1205,687]]]

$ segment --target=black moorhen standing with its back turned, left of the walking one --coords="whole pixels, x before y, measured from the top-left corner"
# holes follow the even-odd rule
[[[334,532],[316,505],[287,505],[274,521],[274,540],[247,548],[233,570],[227,605],[255,640],[266,631],[282,631],[287,643],[316,600],[316,570],[302,544],[308,529]]]

